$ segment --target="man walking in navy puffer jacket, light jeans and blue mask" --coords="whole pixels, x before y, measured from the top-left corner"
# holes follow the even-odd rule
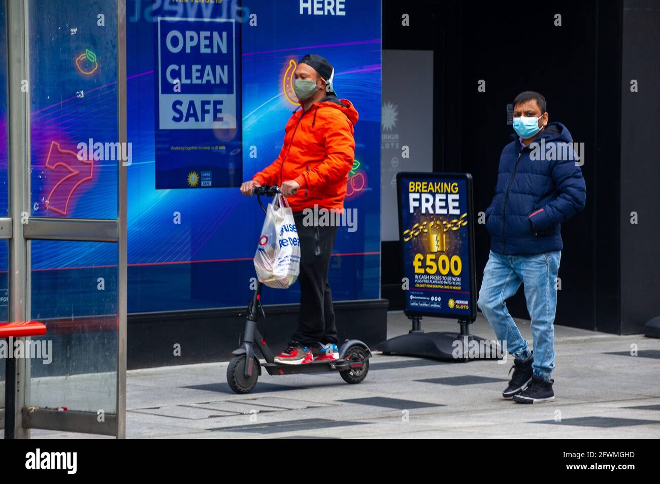
[[[562,123],[548,123],[541,94],[525,91],[513,101],[513,141],[500,156],[495,196],[486,208],[490,254],[479,308],[500,343],[514,357],[504,398],[534,404],[554,400],[556,278],[563,249],[560,224],[585,204],[586,187],[573,138]],[[506,309],[525,285],[534,352]]]

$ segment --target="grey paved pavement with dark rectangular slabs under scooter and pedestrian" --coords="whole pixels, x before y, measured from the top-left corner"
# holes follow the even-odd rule
[[[531,343],[529,321],[516,321]],[[422,326],[458,327],[438,318]],[[389,313],[390,338],[409,328],[403,313]],[[471,332],[495,337],[481,315]],[[264,373],[245,396],[228,388],[227,363],[129,371],[127,437],[660,437],[660,340],[556,326],[556,354],[556,400],[533,406],[500,396],[512,359],[444,363],[376,354],[358,385],[336,373]],[[34,430],[32,437],[96,436]]]

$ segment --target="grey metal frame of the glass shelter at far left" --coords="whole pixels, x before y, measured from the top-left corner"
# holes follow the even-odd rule
[[[123,439],[126,434],[126,164],[117,162],[117,219],[29,217],[30,214],[30,0],[7,0],[7,92],[9,144],[9,217],[0,218],[0,239],[9,242],[9,320],[30,318],[29,241],[68,240],[117,243],[117,402],[116,413],[98,422],[94,412],[25,408],[29,390],[27,359],[7,359],[5,438],[29,438],[30,429],[98,433]],[[117,135],[127,142],[126,9],[117,8]],[[28,92],[23,92],[27,81]],[[120,144],[119,146],[123,146]],[[48,335],[47,335],[48,336]]]

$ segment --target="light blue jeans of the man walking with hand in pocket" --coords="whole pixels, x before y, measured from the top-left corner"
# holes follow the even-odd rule
[[[527,311],[532,318],[534,375],[550,380],[554,370],[554,311],[557,307],[556,278],[561,251],[539,255],[500,255],[490,251],[479,291],[479,308],[490,322],[499,342],[507,344],[514,358],[531,352],[527,341],[506,309],[506,299],[525,285]]]

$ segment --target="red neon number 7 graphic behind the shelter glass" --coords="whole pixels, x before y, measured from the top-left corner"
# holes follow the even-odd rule
[[[53,148],[55,149],[53,150]],[[82,183],[92,179],[94,161],[79,160],[76,153],[63,150],[57,141],[51,141],[46,158],[46,168],[53,170],[53,173],[61,173],[61,179],[55,183],[48,194],[46,209],[66,216],[73,192]],[[56,171],[58,168],[59,171]]]

